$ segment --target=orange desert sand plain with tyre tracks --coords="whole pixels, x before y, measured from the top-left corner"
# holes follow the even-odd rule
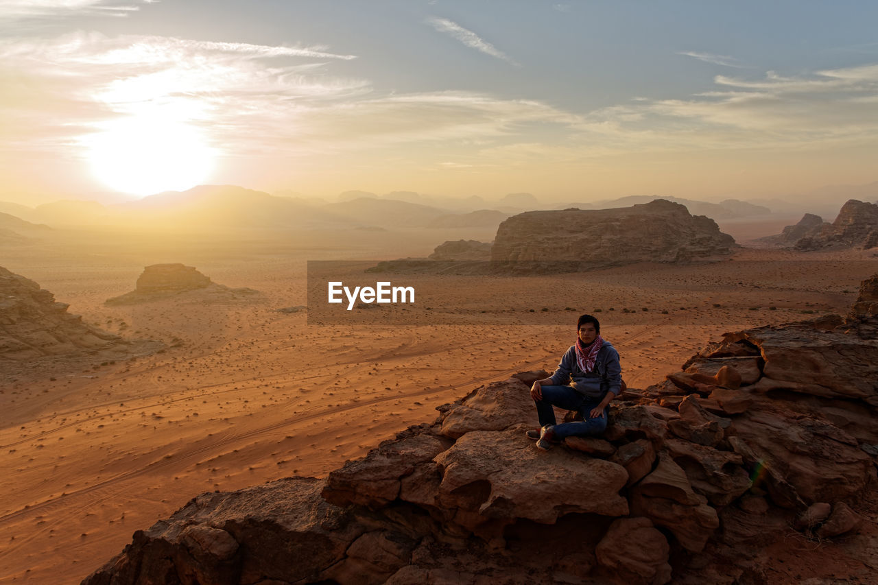
[[[642,388],[723,332],[843,314],[860,281],[878,271],[868,250],[742,249],[716,264],[435,278],[450,291],[438,310],[493,304],[503,310],[492,324],[309,326],[304,312],[277,311],[306,304],[307,260],[427,256],[443,240],[491,236],[400,230],[158,241],[66,233],[4,248],[0,265],[84,321],[167,348],[115,363],[81,356],[0,372],[0,582],[76,583],[133,531],[198,493],[325,475],[396,431],[432,421],[435,407],[480,384],[551,371],[578,314],[601,319],[623,378]],[[145,265],[164,262],[261,294],[104,306],[130,291]],[[517,324],[526,307],[553,324]]]

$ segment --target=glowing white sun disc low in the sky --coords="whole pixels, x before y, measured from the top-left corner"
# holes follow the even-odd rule
[[[205,182],[213,153],[184,122],[131,116],[87,140],[91,170],[115,191],[145,196],[185,191]]]

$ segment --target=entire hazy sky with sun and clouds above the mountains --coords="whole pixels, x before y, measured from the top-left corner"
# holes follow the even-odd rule
[[[878,180],[878,3],[0,0],[0,200]]]

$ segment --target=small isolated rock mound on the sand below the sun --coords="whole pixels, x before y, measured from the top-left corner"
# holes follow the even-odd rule
[[[136,288],[131,293],[108,299],[105,304],[131,305],[192,291],[202,291],[204,294],[199,298],[205,301],[238,300],[256,293],[250,288],[229,288],[212,283],[210,278],[193,266],[153,264],[143,269],[143,273],[137,278]]]

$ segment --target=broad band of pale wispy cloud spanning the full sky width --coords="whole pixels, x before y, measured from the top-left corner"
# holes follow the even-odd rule
[[[83,32],[0,40],[0,147],[76,154],[83,136],[144,111],[198,127],[227,155],[327,165],[335,159],[321,155],[347,153],[410,166],[548,168],[632,153],[874,145],[878,136],[878,64],[800,76],[742,70],[699,94],[573,114],[489,93],[393,93],[334,75],[355,57]]]

